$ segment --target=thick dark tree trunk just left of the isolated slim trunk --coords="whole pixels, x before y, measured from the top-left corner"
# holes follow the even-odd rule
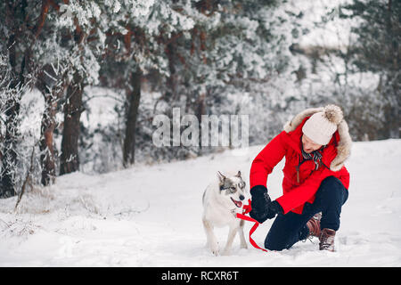
[[[79,119],[83,111],[83,91],[83,78],[76,72],[73,82],[67,88],[67,101],[64,105],[60,175],[75,172],[79,169],[78,138],[80,130]]]

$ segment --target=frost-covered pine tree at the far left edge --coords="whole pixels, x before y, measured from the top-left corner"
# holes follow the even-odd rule
[[[0,78],[0,116],[4,122],[0,141],[0,197],[13,196],[18,191],[20,100],[34,84],[36,64],[33,53],[43,30],[43,16],[48,6],[48,1],[38,0],[0,3],[0,53],[5,69]]]

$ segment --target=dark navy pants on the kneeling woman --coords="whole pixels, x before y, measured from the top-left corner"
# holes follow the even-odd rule
[[[305,203],[302,214],[289,212],[276,216],[267,233],[265,248],[282,250],[291,248],[299,240],[307,239],[307,221],[319,212],[322,212],[321,229],[339,230],[341,207],[347,199],[348,190],[340,180],[334,176],[327,177],[316,191],[314,203]]]

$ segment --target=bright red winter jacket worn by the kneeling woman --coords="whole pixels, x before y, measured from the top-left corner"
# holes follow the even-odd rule
[[[316,111],[317,110],[318,109],[316,109]],[[256,185],[266,186],[267,176],[285,156],[285,166],[282,169],[284,174],[284,178],[282,180],[283,195],[276,199],[276,201],[282,206],[284,214],[288,213],[289,211],[301,214],[306,202],[314,202],[315,192],[319,188],[323,179],[328,176],[332,175],[339,178],[347,189],[349,186],[349,173],[347,168],[343,166],[342,162],[343,160],[347,159],[346,157],[348,157],[350,143],[346,144],[348,150],[345,151],[345,153],[343,150],[339,151],[338,148],[340,142],[340,133],[345,137],[343,142],[350,142],[348,126],[346,126],[346,129],[344,129],[345,127],[340,128],[339,126],[339,130],[333,134],[331,141],[323,149],[322,162],[324,166],[322,165],[315,170],[315,163],[312,159],[305,161],[299,167],[299,183],[297,182],[297,167],[299,166],[299,161],[301,161],[300,159],[302,159],[300,149],[302,126],[304,126],[307,118],[309,117],[310,116],[306,117],[305,113],[299,114],[298,123],[300,123],[298,126],[293,126],[294,120],[296,122],[295,125],[297,125],[297,117],[295,117],[290,123],[290,126],[292,124],[290,131],[289,129],[287,129],[289,132],[285,130],[282,131],[282,133],[275,136],[271,142],[267,143],[266,147],[260,151],[258,156],[253,160],[250,167],[250,189]],[[341,147],[344,147],[344,143],[342,143]],[[337,160],[334,162],[338,162],[340,159],[340,167],[339,165],[337,165],[337,167],[333,167],[331,162],[337,157],[338,151],[340,152],[339,155],[341,155],[342,158],[337,158]],[[333,171],[329,168],[340,170]]]

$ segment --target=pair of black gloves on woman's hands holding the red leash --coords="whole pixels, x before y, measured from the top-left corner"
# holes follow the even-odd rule
[[[258,223],[262,224],[267,219],[274,218],[276,214],[283,213],[282,206],[275,200],[272,202],[265,186],[252,187],[250,195],[252,196],[250,217],[257,220]]]

